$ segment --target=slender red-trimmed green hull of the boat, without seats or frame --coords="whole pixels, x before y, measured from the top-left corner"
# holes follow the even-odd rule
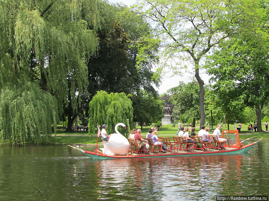
[[[204,155],[225,155],[225,154],[244,154],[248,150],[250,150],[254,144],[257,142],[253,142],[248,144],[242,148],[235,148],[231,150],[219,150],[219,151],[208,151],[208,152],[185,152],[185,153],[167,153],[167,154],[155,154],[155,155],[100,155],[95,152],[85,151],[83,149],[79,149],[77,147],[70,146],[74,149],[80,150],[85,155],[89,156],[92,159],[124,159],[124,158],[169,158],[169,157],[188,157],[188,156],[204,156]]]

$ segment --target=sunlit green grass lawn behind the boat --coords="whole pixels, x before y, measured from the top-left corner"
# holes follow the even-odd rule
[[[249,133],[247,130],[248,124],[243,124],[241,133],[239,133],[240,139],[247,139],[250,137],[254,136],[262,136],[263,138],[269,138],[269,132],[265,133]],[[141,128],[141,127],[137,127]],[[143,128],[141,135],[142,138],[146,136],[148,133],[150,127]],[[199,124],[197,125],[195,133],[198,133],[199,130]],[[213,129],[215,129],[216,126],[213,126]],[[162,128],[160,128],[162,131],[158,131],[158,136],[160,137],[170,137],[175,136],[176,132],[178,131],[177,125],[175,127],[172,127],[172,124],[169,125],[164,125]],[[225,125],[223,127],[225,129]],[[230,130],[233,129],[233,125],[230,125]],[[210,132],[211,133],[211,132]],[[109,133],[108,133],[109,134]],[[68,136],[63,136],[63,135],[68,135]],[[85,136],[80,136],[80,135],[85,135]],[[226,136],[225,136],[226,137]],[[230,138],[233,138],[233,135],[230,134]],[[98,141],[101,142],[101,138],[98,138]],[[51,143],[59,143],[59,144],[96,144],[97,142],[97,133],[91,137],[88,135],[88,131],[77,131],[77,132],[65,132],[63,130],[57,130],[57,136],[52,136],[51,137]]]

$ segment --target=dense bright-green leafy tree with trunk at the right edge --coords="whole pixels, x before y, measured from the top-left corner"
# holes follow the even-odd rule
[[[235,111],[233,107],[254,107],[254,121],[258,132],[261,132],[261,111],[269,100],[269,40],[268,28],[261,26],[266,21],[262,15],[259,17],[258,25],[253,24],[244,33],[233,35],[220,44],[209,57],[208,72],[214,75],[214,88],[227,113]]]

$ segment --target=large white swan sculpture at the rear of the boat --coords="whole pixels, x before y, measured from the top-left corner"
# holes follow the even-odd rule
[[[127,140],[126,137],[121,135],[118,131],[118,126],[125,127],[125,124],[123,123],[118,123],[115,126],[115,131],[116,133],[113,133],[109,135],[109,140],[108,142],[103,141],[101,144],[104,145],[104,148],[100,148],[103,154],[107,155],[115,155],[115,154],[120,154],[120,155],[126,155],[129,152],[130,149],[130,144],[129,141]]]

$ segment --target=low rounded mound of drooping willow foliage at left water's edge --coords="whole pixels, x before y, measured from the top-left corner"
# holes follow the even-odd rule
[[[5,87],[0,96],[0,138],[15,143],[39,143],[56,130],[56,99],[30,82]],[[41,133],[42,132],[42,133]],[[41,136],[42,134],[42,136]]]

